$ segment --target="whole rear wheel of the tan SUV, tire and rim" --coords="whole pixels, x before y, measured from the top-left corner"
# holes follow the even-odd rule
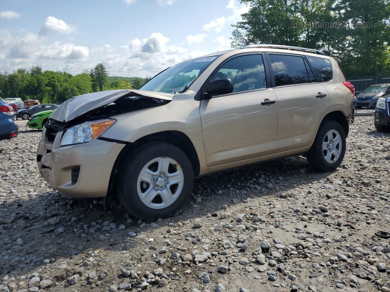
[[[340,135],[339,139],[337,139],[337,135]],[[329,137],[333,139],[329,139]],[[325,121],[319,127],[316,139],[307,153],[307,162],[317,171],[333,171],[340,166],[345,150],[344,129],[336,121]]]

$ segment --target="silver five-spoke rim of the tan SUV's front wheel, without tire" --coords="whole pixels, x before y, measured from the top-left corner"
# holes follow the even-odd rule
[[[176,201],[183,186],[184,173],[179,163],[170,157],[157,157],[140,171],[137,193],[147,207],[162,209]]]

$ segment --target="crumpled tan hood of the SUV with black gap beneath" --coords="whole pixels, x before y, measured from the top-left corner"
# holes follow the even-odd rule
[[[162,106],[173,98],[171,93],[144,90],[108,90],[73,97],[62,103],[50,116],[51,120],[63,125],[95,118],[137,111],[149,107]]]

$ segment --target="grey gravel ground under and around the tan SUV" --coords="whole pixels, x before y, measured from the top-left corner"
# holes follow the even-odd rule
[[[390,134],[356,117],[344,163],[289,157],[195,180],[142,222],[115,196],[65,199],[40,177],[41,131],[0,142],[0,291],[390,291]]]

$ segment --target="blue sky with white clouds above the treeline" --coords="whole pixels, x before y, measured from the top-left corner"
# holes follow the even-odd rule
[[[0,0],[0,72],[39,65],[79,74],[154,76],[230,49],[238,0]]]

